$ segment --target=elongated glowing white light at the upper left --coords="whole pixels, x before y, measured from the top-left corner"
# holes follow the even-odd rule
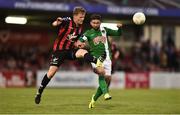
[[[5,22],[8,24],[26,24],[27,19],[25,17],[8,16],[5,18]]]

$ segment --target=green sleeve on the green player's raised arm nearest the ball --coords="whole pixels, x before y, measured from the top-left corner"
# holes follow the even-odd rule
[[[105,28],[108,36],[121,36],[122,28],[118,28],[118,30],[112,30],[109,28]]]

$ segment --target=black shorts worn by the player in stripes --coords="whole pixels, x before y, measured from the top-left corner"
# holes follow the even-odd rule
[[[64,60],[75,60],[75,53],[78,49],[74,50],[56,50],[51,55],[50,65],[59,67]]]

